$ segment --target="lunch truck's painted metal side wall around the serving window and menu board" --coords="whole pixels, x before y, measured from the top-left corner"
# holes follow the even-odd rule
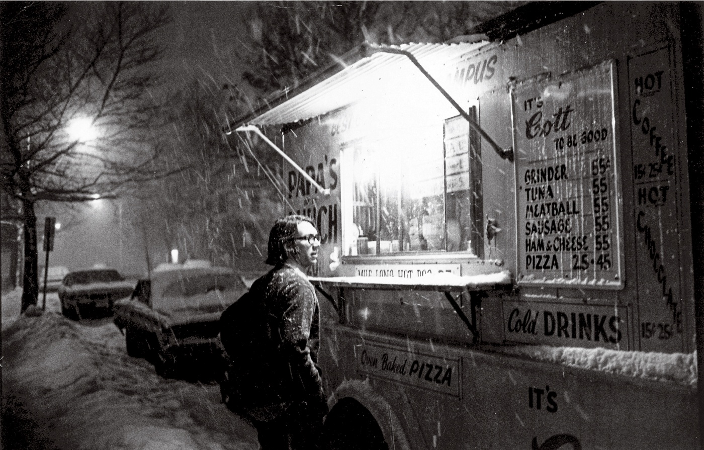
[[[693,351],[691,226],[686,203],[689,180],[686,177],[686,149],[681,144],[686,141],[681,99],[681,71],[684,69],[680,61],[678,25],[675,4],[607,2],[504,44],[490,44],[468,56],[453,56],[451,63],[455,68],[448,69],[447,65],[445,68],[450,74],[445,83],[455,98],[463,106],[477,104],[479,99],[482,127],[496,142],[508,146],[513,142],[514,132],[508,90],[510,82],[530,80],[546,73],[555,80],[563,73],[615,61],[613,135],[616,139],[613,145],[622,192],[615,199],[622,211],[625,263],[622,288],[522,285],[517,293],[492,293],[482,299],[481,316],[484,343],[545,344],[545,347],[534,348],[548,349],[554,355],[566,352],[566,347],[586,347],[579,349],[580,355],[591,357],[598,356],[598,351],[589,353],[594,351],[590,347],[610,347],[616,354],[609,360],[612,365],[586,370],[570,366],[567,359],[559,356],[553,363],[538,362],[502,354],[508,349],[501,346],[472,346],[469,339],[460,335],[464,330],[458,327],[459,320],[455,320],[448,308],[440,307],[441,298],[437,296],[419,299],[417,293],[406,296],[399,292],[395,296],[384,296],[375,292],[365,296],[365,292],[356,292],[356,298],[348,299],[346,311],[357,314],[365,306],[370,308],[371,313],[378,314],[370,320],[370,327],[363,326],[365,322],[358,315],[350,317],[346,325],[339,325],[333,320],[337,315],[326,312],[331,306],[325,300],[321,302],[323,315],[328,320],[323,330],[320,362],[330,394],[342,387],[344,389],[339,392],[345,392],[345,395],[355,392],[350,387],[353,382],[366,387],[367,390],[360,389],[355,398],[370,411],[382,411],[375,413],[380,423],[391,412],[396,414],[403,427],[402,430],[395,429],[394,439],[405,434],[413,449],[699,448],[696,387],[673,380],[653,381],[635,374],[618,375],[628,358],[643,358],[639,362],[645,361],[646,351],[671,356],[673,361],[689,361],[687,358],[691,355],[677,355],[677,352]],[[481,68],[484,75],[475,77]],[[663,71],[662,80],[666,74],[669,77],[670,90],[661,89],[648,96],[636,90],[639,74],[646,78],[653,75],[655,83],[655,73],[660,70]],[[638,106],[642,107],[637,111],[641,123],[634,123],[636,99],[640,100]],[[650,144],[650,135],[643,135],[639,128],[644,116],[655,118],[655,111],[662,115],[658,116],[662,121],[655,124],[653,119],[651,125],[658,127],[661,143],[667,141],[671,154],[656,153]],[[344,176],[344,169],[340,166],[341,151],[358,144],[358,139],[363,139],[367,131],[379,131],[376,128],[360,131],[358,120],[360,118],[354,115],[352,108],[337,111],[313,120],[285,137],[287,152],[304,168],[310,167],[314,177],[325,175],[327,187],[332,187],[332,172],[336,173],[338,185],[332,189],[330,197],[308,192],[305,183],[301,185],[295,174],[289,178],[293,180],[289,184],[291,208],[320,219],[321,234],[327,234],[327,241],[320,251],[320,275],[331,272],[329,257],[335,254],[334,246],[341,242],[344,225],[340,204],[340,183]],[[383,124],[378,127],[382,128]],[[441,140],[437,145],[442,145]],[[413,261],[410,256],[403,259],[384,256],[375,264],[459,263],[463,274],[474,267],[496,268],[498,266],[494,264],[501,264],[501,269],[508,268],[514,274],[518,272],[515,261],[521,230],[517,230],[515,220],[516,165],[502,160],[493,151],[487,151],[486,146],[482,150],[484,214],[496,220],[501,228],[495,241],[486,242],[484,254],[490,261],[469,261],[466,257],[448,254],[443,258],[420,255]],[[667,169],[670,155],[675,161],[672,173]],[[665,156],[665,173],[648,176],[647,182],[639,180],[637,170],[642,165],[648,165],[650,169],[651,163],[662,162],[662,156]],[[654,203],[647,206],[643,201],[650,201],[650,187],[653,186],[658,187],[652,194]],[[665,201],[662,186],[667,187],[668,193],[676,195],[668,196]],[[641,194],[642,187],[648,188],[645,196]],[[331,237],[334,233],[329,224],[329,211],[335,211],[336,205],[333,222],[337,224],[337,238]],[[320,211],[325,214],[321,215]],[[639,230],[640,211],[646,212],[651,230],[649,240],[645,232]],[[641,229],[644,224],[641,221]],[[651,256],[650,249],[655,244],[661,252],[660,261],[668,261],[668,267],[664,269],[667,272],[660,273],[659,264],[653,267],[655,256]],[[665,273],[674,292],[670,304],[659,294],[653,294],[662,292],[661,280]],[[413,321],[417,319],[413,305],[402,304],[402,301],[411,303],[409,299],[427,309],[438,306],[436,311],[422,318],[426,324],[432,325],[434,333],[419,337],[423,325],[413,327]],[[672,303],[677,304],[676,310]],[[406,315],[398,313],[403,308],[407,310]],[[515,310],[518,313],[514,313]],[[526,315],[528,310],[530,315]],[[681,322],[673,313],[681,314]],[[554,327],[551,320],[554,320]],[[664,339],[666,334],[660,339],[658,324],[665,323],[674,325],[669,329],[672,332],[670,339]],[[612,326],[614,324],[620,326]],[[655,324],[655,327],[648,324]],[[681,330],[677,329],[678,324]],[[535,329],[541,331],[534,332]],[[650,329],[658,334],[646,337]],[[437,333],[438,330],[444,330],[446,334]],[[452,330],[457,335],[453,335]],[[429,338],[431,335],[432,339]],[[384,376],[383,367],[360,368],[360,351],[371,341],[374,342],[372,356],[377,356],[379,361],[385,353],[389,357],[394,354],[396,365],[384,366],[390,368],[390,375]],[[432,362],[432,365],[446,363],[447,367],[458,368],[461,385],[451,386],[449,381],[443,384],[442,377],[440,383],[434,378],[426,380],[425,376],[413,382],[407,380],[407,374],[402,370],[410,370],[412,360],[422,356],[429,356],[426,362]],[[401,358],[404,362],[408,360],[405,369],[401,368]],[[670,375],[667,370],[672,370],[668,367],[662,369],[666,377]],[[675,369],[691,367],[685,363]],[[435,385],[414,384],[425,382]],[[336,396],[331,398],[339,399]],[[386,438],[392,439],[391,434]]]

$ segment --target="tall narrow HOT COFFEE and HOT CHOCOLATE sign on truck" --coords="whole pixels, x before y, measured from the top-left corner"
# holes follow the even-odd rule
[[[643,351],[681,351],[678,193],[682,163],[669,48],[629,59],[639,337]]]

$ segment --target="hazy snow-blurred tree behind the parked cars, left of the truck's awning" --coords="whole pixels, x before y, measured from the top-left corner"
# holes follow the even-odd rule
[[[263,269],[271,223],[281,213],[269,179],[280,180],[275,158],[254,158],[222,134],[222,90],[204,80],[172,94],[163,139],[168,178],[140,189],[142,217],[162,230],[182,258],[203,258],[244,272]],[[262,193],[265,194],[262,194]]]

